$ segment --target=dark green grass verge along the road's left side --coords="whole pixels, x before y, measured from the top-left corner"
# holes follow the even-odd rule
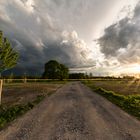
[[[28,102],[27,104],[14,105],[11,107],[0,106],[0,129],[2,129],[7,123],[16,119],[18,116],[23,115],[28,110],[32,109],[44,98],[44,95],[38,95],[34,101]]]

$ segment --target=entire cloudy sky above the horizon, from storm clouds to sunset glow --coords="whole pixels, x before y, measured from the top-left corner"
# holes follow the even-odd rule
[[[140,71],[139,0],[0,0],[0,30],[20,54],[17,74],[52,59],[98,76]]]

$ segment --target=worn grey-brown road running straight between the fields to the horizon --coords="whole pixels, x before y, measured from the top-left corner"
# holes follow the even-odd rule
[[[140,122],[74,82],[15,120],[0,140],[140,140]]]

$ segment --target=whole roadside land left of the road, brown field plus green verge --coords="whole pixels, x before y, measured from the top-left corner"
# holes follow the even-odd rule
[[[0,106],[0,129],[25,114],[45,97],[49,97],[62,82],[4,84]]]

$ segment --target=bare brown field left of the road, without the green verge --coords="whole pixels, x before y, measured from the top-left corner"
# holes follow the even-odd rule
[[[2,93],[3,105],[28,103],[38,95],[47,95],[56,91],[61,83],[11,83],[5,84]]]

